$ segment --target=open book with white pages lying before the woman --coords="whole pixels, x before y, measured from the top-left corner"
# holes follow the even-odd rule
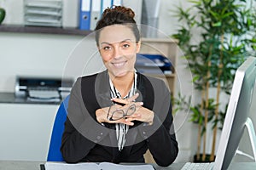
[[[41,168],[42,169],[42,168]],[[111,162],[101,162],[101,163],[94,163],[94,162],[81,162],[75,164],[69,164],[66,162],[46,162],[44,164],[45,170],[154,170],[154,167],[150,164],[115,164]]]

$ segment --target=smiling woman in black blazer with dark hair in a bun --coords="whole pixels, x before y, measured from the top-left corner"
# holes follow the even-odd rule
[[[164,82],[135,70],[140,34],[131,8],[107,8],[96,45],[107,70],[74,84],[62,135],[67,162],[144,162],[169,166],[177,157],[171,96]]]

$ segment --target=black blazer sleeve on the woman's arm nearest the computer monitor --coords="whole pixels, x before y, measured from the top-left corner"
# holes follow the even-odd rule
[[[173,127],[171,94],[164,82],[157,86],[155,93],[154,123],[144,124],[140,128],[141,135],[148,141],[154,161],[162,167],[167,167],[176,159],[178,144]],[[162,90],[160,90],[162,89]]]

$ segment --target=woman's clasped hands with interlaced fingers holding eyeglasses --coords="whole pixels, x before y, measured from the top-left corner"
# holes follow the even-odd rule
[[[137,93],[128,99],[111,99],[114,105],[96,110],[96,120],[100,123],[124,123],[129,126],[134,125],[133,121],[153,124],[154,112],[143,107],[143,102],[134,102],[138,96]]]

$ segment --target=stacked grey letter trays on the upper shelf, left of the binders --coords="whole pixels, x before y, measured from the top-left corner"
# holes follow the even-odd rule
[[[25,26],[62,26],[62,0],[24,0]]]

